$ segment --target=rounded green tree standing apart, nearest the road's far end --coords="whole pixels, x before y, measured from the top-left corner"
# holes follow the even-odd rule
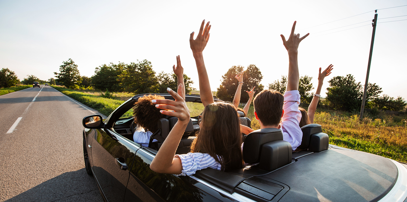
[[[78,65],[72,59],[63,61],[59,71],[59,73],[54,72],[57,77],[55,80],[61,82],[66,88],[74,88],[75,85],[81,84],[82,77],[79,74]]]

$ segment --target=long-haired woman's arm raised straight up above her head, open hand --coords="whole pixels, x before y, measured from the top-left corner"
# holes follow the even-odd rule
[[[204,63],[204,55],[202,55],[202,51],[204,51],[205,46],[209,40],[210,25],[209,22],[206,23],[205,28],[204,25],[205,20],[202,21],[201,28],[199,29],[199,33],[195,40],[194,32],[191,33],[189,37],[189,45],[194,55],[195,63],[197,64],[199,78],[199,94],[201,94],[202,104],[206,106],[208,104],[213,103],[214,101],[212,91],[210,90],[208,72],[206,72],[206,67]]]

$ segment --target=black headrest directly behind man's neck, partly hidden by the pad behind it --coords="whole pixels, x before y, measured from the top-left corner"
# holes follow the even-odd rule
[[[283,138],[281,130],[277,128],[263,128],[251,132],[243,144],[243,160],[249,164],[258,163],[263,145],[278,140]]]

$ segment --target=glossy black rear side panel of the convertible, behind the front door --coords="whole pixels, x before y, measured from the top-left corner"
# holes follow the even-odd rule
[[[130,201],[186,201],[202,202],[231,201],[220,196],[217,191],[207,188],[205,191],[198,188],[196,180],[189,176],[176,176],[172,174],[156,173],[150,169],[154,158],[153,152],[146,147],[137,150],[134,157],[133,167],[130,170],[129,183],[125,194],[125,202]],[[209,193],[210,194],[209,194]],[[217,196],[215,198],[213,195]],[[223,200],[222,200],[223,201]]]

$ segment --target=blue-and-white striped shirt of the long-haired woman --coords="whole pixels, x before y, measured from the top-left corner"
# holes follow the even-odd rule
[[[195,174],[196,171],[206,168],[221,170],[221,164],[209,154],[176,154],[174,157],[179,157],[182,163],[182,171],[178,176],[190,176]]]

